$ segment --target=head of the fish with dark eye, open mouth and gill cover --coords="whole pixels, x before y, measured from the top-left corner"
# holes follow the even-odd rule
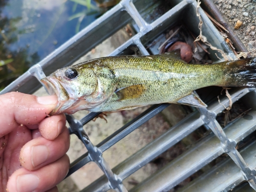
[[[88,110],[105,100],[100,79],[90,66],[59,69],[41,82],[49,94],[58,96],[58,104],[50,115]]]

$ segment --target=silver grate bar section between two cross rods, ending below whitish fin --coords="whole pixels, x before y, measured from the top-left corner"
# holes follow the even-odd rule
[[[166,151],[169,147],[173,146],[191,132],[195,131],[199,126],[203,125],[203,121],[199,117],[200,114],[197,111],[189,114],[186,118],[173,126],[172,129],[169,129],[166,133],[156,138],[134,155],[114,167],[113,172],[116,173],[121,179],[125,179],[126,177],[130,176],[146,163],[150,162],[159,154]],[[103,181],[105,181],[105,183]],[[83,191],[98,191],[97,183],[104,183],[105,185],[108,183],[108,181],[105,180],[104,177],[101,177]]]

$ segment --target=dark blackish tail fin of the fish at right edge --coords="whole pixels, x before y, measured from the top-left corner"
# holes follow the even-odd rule
[[[256,87],[256,58],[231,61],[225,70],[225,87]]]

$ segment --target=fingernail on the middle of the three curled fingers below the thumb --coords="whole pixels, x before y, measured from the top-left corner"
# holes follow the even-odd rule
[[[33,167],[44,163],[48,158],[49,152],[45,145],[36,145],[31,148],[31,162]]]

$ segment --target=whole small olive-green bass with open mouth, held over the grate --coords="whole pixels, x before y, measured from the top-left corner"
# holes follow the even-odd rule
[[[180,51],[158,55],[112,56],[58,69],[41,79],[58,96],[50,115],[79,110],[110,112],[158,103],[207,105],[194,90],[208,87],[256,87],[256,58],[210,65],[188,64]]]

